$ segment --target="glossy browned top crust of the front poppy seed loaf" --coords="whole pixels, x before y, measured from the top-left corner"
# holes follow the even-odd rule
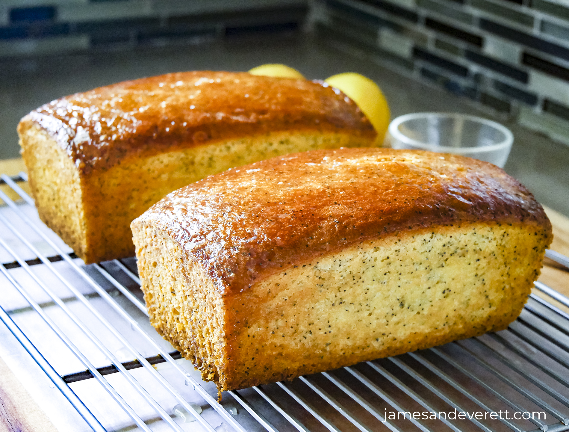
[[[486,162],[393,149],[316,150],[209,176],[146,211],[237,294],[283,268],[399,231],[473,222],[551,224],[533,195]]]

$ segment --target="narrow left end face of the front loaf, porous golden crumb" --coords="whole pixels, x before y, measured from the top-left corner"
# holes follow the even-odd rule
[[[204,380],[225,385],[220,294],[167,234],[142,223],[133,224],[133,232],[150,323],[200,369]]]

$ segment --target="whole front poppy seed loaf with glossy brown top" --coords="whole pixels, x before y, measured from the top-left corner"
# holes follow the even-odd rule
[[[391,149],[209,176],[131,228],[152,325],[220,391],[503,330],[552,240],[500,168]]]

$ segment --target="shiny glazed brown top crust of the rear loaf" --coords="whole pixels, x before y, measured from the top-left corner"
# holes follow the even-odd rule
[[[246,72],[178,72],[100,87],[40,106],[39,124],[84,173],[136,154],[284,130],[373,126],[345,94],[308,80]]]

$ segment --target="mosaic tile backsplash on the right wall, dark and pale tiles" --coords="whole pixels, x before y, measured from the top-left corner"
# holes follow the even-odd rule
[[[567,0],[325,0],[314,6],[316,30],[345,49],[363,48],[358,52],[370,60],[569,145]]]

